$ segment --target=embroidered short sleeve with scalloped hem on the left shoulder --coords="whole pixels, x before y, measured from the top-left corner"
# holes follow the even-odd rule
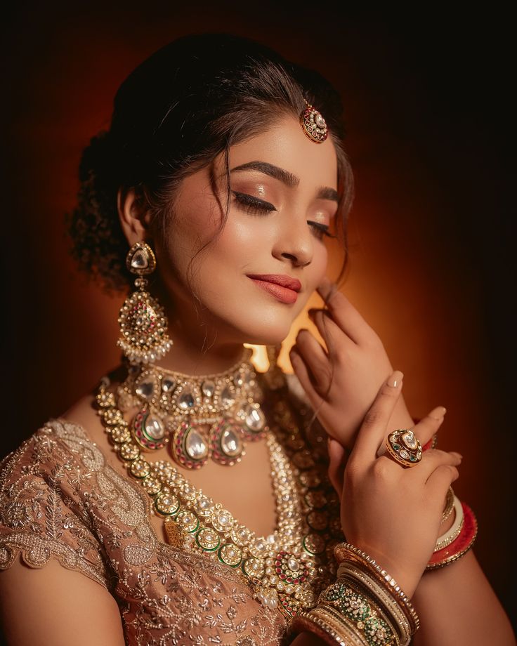
[[[55,559],[111,590],[102,546],[70,492],[87,475],[60,448],[42,428],[0,462],[0,569],[18,555],[35,568]]]

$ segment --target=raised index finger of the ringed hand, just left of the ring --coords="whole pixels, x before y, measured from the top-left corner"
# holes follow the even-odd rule
[[[358,437],[351,454],[351,459],[360,462],[372,462],[377,458],[377,449],[388,435],[388,421],[402,390],[403,373],[395,370],[388,380],[381,385],[374,403],[369,408],[359,429]]]

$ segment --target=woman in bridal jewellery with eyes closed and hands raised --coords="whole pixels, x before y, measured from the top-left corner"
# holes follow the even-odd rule
[[[319,74],[222,35],[122,84],[71,232],[131,286],[124,361],[2,463],[8,643],[513,642],[450,489],[461,456],[434,448],[445,409],[414,423],[325,277],[340,112]],[[301,331],[287,379],[275,348],[315,290],[326,348]]]

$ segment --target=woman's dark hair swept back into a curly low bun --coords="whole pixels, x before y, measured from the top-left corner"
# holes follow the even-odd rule
[[[305,100],[322,112],[336,146],[339,232],[346,250],[353,180],[341,145],[342,105],[336,90],[318,72],[254,41],[201,34],[177,39],[141,63],[117,91],[110,130],[84,150],[78,204],[70,216],[72,255],[79,268],[108,291],[127,287],[134,277],[126,270],[119,189],[136,190],[163,222],[185,176],[221,152],[228,162],[230,145],[263,131],[282,114],[298,117]]]

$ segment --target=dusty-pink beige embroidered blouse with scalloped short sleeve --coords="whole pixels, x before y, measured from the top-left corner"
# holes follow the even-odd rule
[[[89,576],[117,600],[131,646],[289,643],[244,576],[159,541],[150,504],[81,426],[51,420],[0,462],[0,568],[21,554]]]

